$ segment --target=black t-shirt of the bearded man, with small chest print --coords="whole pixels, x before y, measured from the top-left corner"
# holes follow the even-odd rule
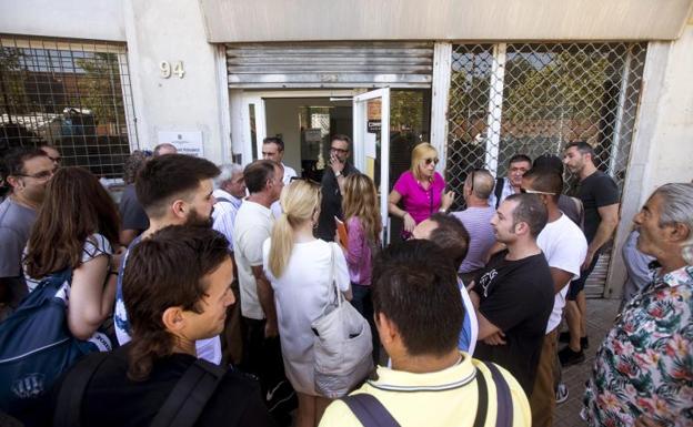
[[[506,261],[495,254],[478,276],[479,312],[505,334],[505,345],[479,342],[474,357],[494,362],[532,394],[536,365],[553,308],[553,279],[543,253]]]

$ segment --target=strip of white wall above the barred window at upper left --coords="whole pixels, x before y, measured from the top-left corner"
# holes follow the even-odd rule
[[[119,0],[0,0],[0,32],[125,41]]]

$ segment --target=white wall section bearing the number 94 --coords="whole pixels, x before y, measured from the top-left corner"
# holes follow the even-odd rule
[[[204,156],[229,161],[223,58],[207,42],[198,2],[124,0],[124,20],[140,146],[157,145],[159,131],[201,131]],[[162,79],[160,61],[182,61],[184,77]]]

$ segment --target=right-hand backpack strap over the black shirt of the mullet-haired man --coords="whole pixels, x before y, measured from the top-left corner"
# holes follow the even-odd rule
[[[150,426],[191,427],[194,425],[225,374],[225,368],[204,359],[197,359],[178,380]]]

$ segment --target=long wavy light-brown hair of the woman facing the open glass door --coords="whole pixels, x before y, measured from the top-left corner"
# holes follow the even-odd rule
[[[375,184],[368,175],[354,173],[344,180],[342,200],[344,220],[355,216],[361,222],[366,240],[378,244],[382,224],[378,209],[378,192]]]

